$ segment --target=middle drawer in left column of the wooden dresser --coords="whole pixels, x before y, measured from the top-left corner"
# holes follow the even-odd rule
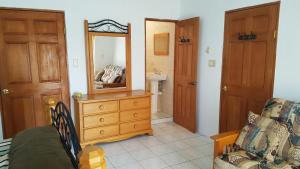
[[[83,127],[97,127],[119,122],[119,113],[83,117]]]

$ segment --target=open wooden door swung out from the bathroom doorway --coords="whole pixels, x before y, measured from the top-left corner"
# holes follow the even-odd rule
[[[174,121],[196,132],[199,18],[178,21],[175,41]]]

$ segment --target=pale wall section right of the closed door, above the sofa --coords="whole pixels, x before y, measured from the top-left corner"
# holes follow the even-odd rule
[[[282,0],[274,96],[300,102],[300,1]]]

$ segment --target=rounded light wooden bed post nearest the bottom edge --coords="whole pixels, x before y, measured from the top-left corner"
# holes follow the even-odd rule
[[[87,146],[78,154],[79,169],[106,169],[104,151],[97,146]]]

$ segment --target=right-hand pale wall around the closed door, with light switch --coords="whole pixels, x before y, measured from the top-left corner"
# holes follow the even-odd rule
[[[182,0],[181,18],[200,16],[200,60],[198,90],[198,130],[201,134],[218,133],[221,66],[225,11],[274,2],[275,0]],[[298,31],[300,1],[282,0],[275,74],[275,97],[300,101],[300,51]],[[211,52],[205,50],[210,47]],[[215,59],[216,67],[209,68],[208,60]]]

